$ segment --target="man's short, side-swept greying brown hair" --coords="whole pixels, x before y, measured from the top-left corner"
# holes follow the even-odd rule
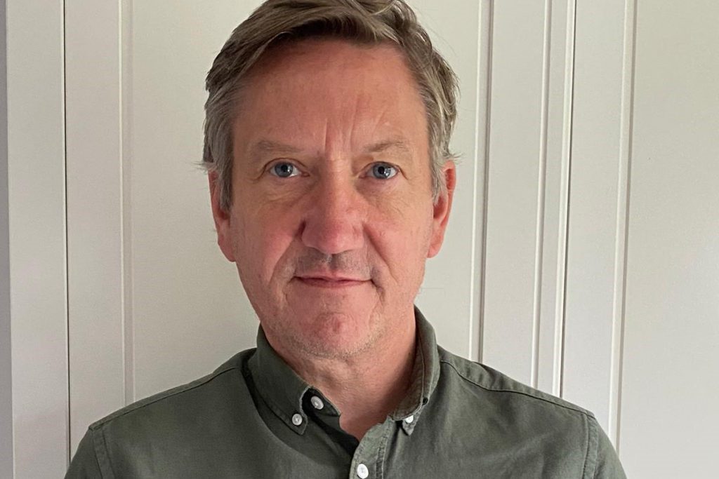
[[[207,73],[202,162],[217,174],[220,207],[232,206],[232,126],[242,111],[243,80],[268,47],[316,37],[389,44],[403,54],[426,110],[436,201],[446,189],[441,167],[454,159],[449,139],[457,118],[457,75],[412,9],[404,0],[267,0],[234,29]]]

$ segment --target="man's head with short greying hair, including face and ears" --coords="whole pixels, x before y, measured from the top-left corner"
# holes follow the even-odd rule
[[[452,203],[456,83],[411,10],[270,0],[207,86],[218,241],[270,343],[351,356],[413,330]]]

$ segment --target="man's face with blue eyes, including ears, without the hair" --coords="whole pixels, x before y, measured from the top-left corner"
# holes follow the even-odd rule
[[[433,202],[423,103],[398,50],[334,39],[277,47],[255,66],[233,129],[235,261],[278,350],[347,357],[408,330],[454,187]]]

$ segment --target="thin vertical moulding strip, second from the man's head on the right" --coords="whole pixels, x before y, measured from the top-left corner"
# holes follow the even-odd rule
[[[549,122],[549,54],[551,52],[551,0],[544,1],[544,45],[542,47],[541,121],[539,126],[539,172],[534,251],[534,295],[532,318],[531,386],[539,385],[539,323],[541,321],[541,279],[544,268],[544,212],[546,197],[546,149]]]

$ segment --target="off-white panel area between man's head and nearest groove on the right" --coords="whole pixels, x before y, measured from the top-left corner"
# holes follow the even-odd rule
[[[481,238],[484,152],[477,152],[477,78],[480,59],[480,3],[464,0],[413,0],[422,24],[429,30],[435,46],[459,76],[462,95],[457,106],[457,127],[452,150],[459,154],[457,190],[439,254],[427,261],[425,279],[416,303],[434,325],[437,340],[446,349],[467,358],[478,358],[479,316],[475,303],[475,255],[477,236]],[[488,25],[485,25],[485,29]],[[484,111],[485,104],[479,106]],[[482,118],[484,115],[482,115]],[[482,125],[482,128],[484,126]]]

